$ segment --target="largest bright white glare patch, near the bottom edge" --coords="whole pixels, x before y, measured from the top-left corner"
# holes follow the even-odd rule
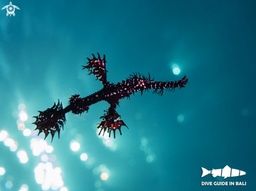
[[[52,163],[39,163],[34,169],[36,182],[42,185],[43,190],[52,188],[53,190],[63,186],[61,169],[59,167],[53,169]],[[66,189],[68,190],[68,189]]]

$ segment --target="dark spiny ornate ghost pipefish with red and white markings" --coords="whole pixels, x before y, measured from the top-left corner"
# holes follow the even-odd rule
[[[98,53],[97,53],[98,54]],[[169,91],[174,91],[175,88],[184,88],[188,82],[188,78],[184,76],[179,81],[154,81],[154,78],[150,78],[141,75],[140,73],[133,73],[126,80],[122,80],[116,84],[107,81],[107,70],[106,70],[106,60],[105,54],[103,59],[98,54],[98,58],[93,55],[93,58],[88,59],[88,65],[82,66],[83,69],[88,69],[89,74],[94,74],[96,80],[102,82],[103,88],[85,98],[81,98],[79,94],[74,94],[69,98],[69,105],[63,109],[62,103],[58,100],[57,104],[53,104],[52,108],[48,108],[46,111],[38,111],[39,115],[34,116],[37,127],[35,130],[39,130],[39,133],[44,133],[46,137],[51,134],[52,139],[56,132],[58,132],[58,137],[60,138],[60,129],[66,122],[65,114],[72,112],[75,115],[81,115],[83,112],[88,112],[89,106],[95,104],[99,101],[106,101],[109,103],[109,108],[104,110],[105,114],[100,117],[102,122],[97,124],[97,128],[101,129],[99,134],[103,130],[103,135],[107,131],[110,134],[113,131],[114,138],[116,137],[116,130],[118,129],[121,134],[121,126],[126,126],[124,121],[121,119],[120,115],[116,112],[116,106],[119,106],[119,100],[124,98],[130,98],[130,95],[135,92],[148,91],[149,89],[154,89],[153,93],[163,95],[164,89]],[[159,91],[158,91],[159,90]],[[126,126],[127,127],[127,126]],[[127,127],[128,128],[128,127]]]

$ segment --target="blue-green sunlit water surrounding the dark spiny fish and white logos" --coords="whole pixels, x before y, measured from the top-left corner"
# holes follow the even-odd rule
[[[0,11],[1,191],[255,190],[255,1],[12,4],[15,16]],[[102,89],[81,67],[97,52],[110,82],[139,72],[156,81],[186,75],[189,84],[121,100],[129,129],[116,139],[97,135],[109,107],[99,102],[85,121],[66,114],[60,139],[43,141],[31,124],[37,111]],[[226,165],[246,175],[201,177],[202,167]]]

